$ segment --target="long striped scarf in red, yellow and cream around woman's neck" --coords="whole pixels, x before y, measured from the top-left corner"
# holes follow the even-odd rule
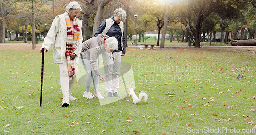
[[[73,26],[74,33],[70,24],[70,18],[68,12],[64,13],[66,26],[67,26],[67,43],[66,43],[66,56],[68,63],[69,80],[72,80],[72,76],[75,75],[75,58],[71,58],[70,54],[77,48],[77,44],[80,39],[80,30],[78,26],[78,19],[74,18]]]

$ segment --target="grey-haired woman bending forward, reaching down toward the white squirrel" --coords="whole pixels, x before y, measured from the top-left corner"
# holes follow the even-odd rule
[[[86,77],[86,91],[83,97],[91,99],[96,97],[104,99],[99,91],[99,80],[104,81],[103,75],[97,66],[97,59],[100,54],[106,52],[111,53],[118,47],[118,42],[115,37],[109,37],[105,34],[99,34],[97,37],[90,38],[82,43],[82,51],[80,61],[87,71]],[[90,92],[90,87],[93,82],[94,95]]]

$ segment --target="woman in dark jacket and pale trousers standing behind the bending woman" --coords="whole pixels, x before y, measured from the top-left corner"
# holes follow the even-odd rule
[[[115,37],[118,41],[118,49],[112,53],[104,52],[102,54],[104,62],[107,97],[119,97],[117,92],[119,88],[119,75],[121,70],[121,56],[125,55],[125,35],[123,19],[126,19],[126,11],[118,8],[114,11],[114,16],[105,19],[94,36],[103,33],[109,37]],[[113,95],[112,95],[113,92]]]

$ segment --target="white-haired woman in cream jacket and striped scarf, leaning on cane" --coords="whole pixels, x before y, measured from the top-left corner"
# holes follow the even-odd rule
[[[66,12],[58,15],[52,22],[42,49],[44,52],[52,46],[53,60],[59,64],[60,86],[63,94],[62,107],[69,106],[69,100],[76,100],[71,95],[71,89],[76,80],[79,54],[82,48],[82,22],[76,18],[82,11],[78,2],[70,2]]]

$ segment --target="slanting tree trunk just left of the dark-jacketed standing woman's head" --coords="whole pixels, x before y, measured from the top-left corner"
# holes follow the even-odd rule
[[[103,16],[103,12],[104,12],[104,7],[106,6],[106,4],[108,4],[111,0],[101,0],[98,3],[98,11],[95,15],[94,18],[94,22],[93,22],[93,35],[92,37],[94,37],[94,33],[96,32],[96,30],[98,29],[100,23],[101,23],[101,19]]]

